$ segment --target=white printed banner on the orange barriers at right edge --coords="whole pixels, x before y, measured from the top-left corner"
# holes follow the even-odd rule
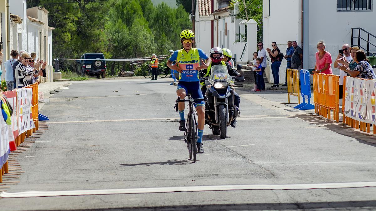
[[[376,80],[346,77],[345,115],[370,124],[375,124]]]

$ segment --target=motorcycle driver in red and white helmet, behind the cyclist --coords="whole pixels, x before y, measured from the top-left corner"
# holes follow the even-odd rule
[[[210,76],[211,75],[211,67],[214,66],[214,65],[224,65],[224,66],[227,66],[227,71],[232,76],[240,75],[240,73],[238,73],[237,70],[235,70],[234,68],[232,68],[232,66],[230,65],[230,63],[223,61],[224,55],[222,53],[222,49],[221,48],[219,48],[219,47],[212,48],[210,50],[210,59],[212,60],[212,63],[208,66],[208,68],[206,69],[206,71],[204,70],[204,72],[206,72],[206,76]],[[201,76],[205,76],[205,75],[201,74]],[[203,95],[205,95],[205,92],[207,90],[206,86],[205,86],[205,83],[201,83],[201,85],[202,85],[201,91],[202,91]],[[234,104],[239,108],[239,105],[240,105],[240,96],[238,95],[238,93],[235,92],[235,90],[233,90],[233,93],[234,93]],[[236,126],[237,126],[237,121],[236,121],[236,119],[234,119],[231,122],[231,127],[235,128]]]

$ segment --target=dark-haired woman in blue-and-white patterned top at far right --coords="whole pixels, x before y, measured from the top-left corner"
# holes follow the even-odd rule
[[[373,69],[365,56],[364,51],[358,50],[355,53],[354,61],[358,64],[354,70],[351,70],[349,67],[346,68],[347,72],[351,77],[354,78],[364,78],[364,79],[376,79],[376,75],[373,72]]]

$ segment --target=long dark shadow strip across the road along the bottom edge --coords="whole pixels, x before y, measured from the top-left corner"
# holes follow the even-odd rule
[[[350,201],[350,202],[305,202],[305,203],[241,203],[241,204],[214,204],[214,205],[181,205],[181,206],[155,206],[117,209],[91,209],[91,210],[374,210],[376,201]]]

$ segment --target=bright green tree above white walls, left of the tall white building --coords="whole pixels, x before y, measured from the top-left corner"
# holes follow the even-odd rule
[[[257,38],[262,41],[262,0],[231,0],[230,8],[235,7],[238,8],[237,19],[257,22]]]

